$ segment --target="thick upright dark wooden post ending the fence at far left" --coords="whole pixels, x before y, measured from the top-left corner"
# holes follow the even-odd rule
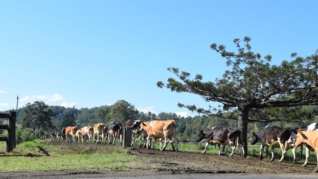
[[[5,151],[11,152],[16,146],[16,115],[17,112],[10,112],[8,117],[8,133]]]

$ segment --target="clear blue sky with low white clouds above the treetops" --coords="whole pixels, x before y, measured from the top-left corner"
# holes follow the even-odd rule
[[[156,86],[173,77],[167,67],[213,80],[227,67],[209,45],[234,49],[232,40],[244,36],[273,64],[294,51],[313,54],[317,7],[314,0],[0,1],[0,110],[14,108],[19,94],[20,107],[125,99],[140,111],[196,115],[177,103],[206,107],[199,96]]]

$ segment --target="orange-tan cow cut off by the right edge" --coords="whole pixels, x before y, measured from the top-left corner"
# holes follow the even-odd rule
[[[298,147],[304,143],[309,145],[316,152],[317,167],[314,172],[318,172],[318,130],[303,131],[302,129],[299,129],[298,134],[296,134],[295,138],[295,146]]]

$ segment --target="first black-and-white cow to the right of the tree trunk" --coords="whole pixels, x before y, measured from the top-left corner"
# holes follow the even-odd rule
[[[283,161],[285,153],[287,150],[292,148],[293,156],[294,156],[294,163],[296,162],[296,155],[295,155],[295,147],[292,146],[291,143],[288,142],[292,135],[297,134],[297,130],[295,128],[281,128],[278,126],[266,126],[264,129],[264,133],[261,136],[261,147],[259,158],[263,159],[263,148],[264,147],[272,147],[272,158],[274,160],[274,148],[280,148],[282,151],[282,157],[280,158],[280,162]],[[257,142],[257,141],[256,141]],[[255,143],[256,143],[255,142]]]

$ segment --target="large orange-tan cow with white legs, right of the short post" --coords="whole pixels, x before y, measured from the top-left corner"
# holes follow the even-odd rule
[[[154,140],[158,140],[160,138],[164,138],[164,145],[160,148],[160,151],[164,151],[168,141],[171,144],[172,150],[178,152],[178,138],[176,134],[176,121],[175,120],[165,120],[165,121],[149,121],[149,122],[141,122],[140,131],[146,131],[148,134],[147,137],[147,148],[150,147],[150,138]],[[172,140],[173,137],[173,140]],[[155,141],[153,140],[153,146],[155,145]],[[173,142],[176,143],[176,150],[173,146]]]

